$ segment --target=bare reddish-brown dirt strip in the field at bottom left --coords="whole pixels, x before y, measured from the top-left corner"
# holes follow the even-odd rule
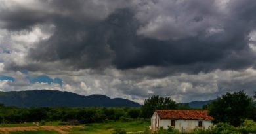
[[[0,127],[1,133],[9,133],[14,131],[38,131],[38,130],[47,130],[47,131],[56,131],[61,134],[69,133],[70,129],[74,126],[29,126],[29,127]]]

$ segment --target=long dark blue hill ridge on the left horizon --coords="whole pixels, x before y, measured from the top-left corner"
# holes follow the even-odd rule
[[[0,92],[0,103],[15,107],[140,107],[128,99],[105,95],[83,96],[56,90]]]

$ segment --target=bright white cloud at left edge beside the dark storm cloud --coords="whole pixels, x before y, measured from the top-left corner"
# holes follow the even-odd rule
[[[28,65],[32,63],[26,56],[30,48],[38,42],[51,37],[54,25],[34,25],[32,29],[22,31],[7,31],[0,29],[0,50],[9,50],[10,54],[0,53],[0,60],[5,66],[15,63],[16,65]]]

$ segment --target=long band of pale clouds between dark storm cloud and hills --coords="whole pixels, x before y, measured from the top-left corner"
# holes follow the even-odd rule
[[[148,67],[145,67],[148,69]],[[143,70],[143,69],[140,69]],[[198,74],[175,74],[163,78],[143,77],[137,78],[138,74],[131,75],[129,71],[118,71],[119,76],[130,74],[127,79],[109,75],[108,73],[98,75],[88,71],[69,71],[68,73],[45,74],[50,77],[58,77],[64,81],[63,86],[59,84],[30,84],[26,75],[17,71],[9,73],[15,78],[14,82],[1,81],[0,89],[11,90],[62,90],[79,93],[81,95],[104,94],[109,97],[123,97],[142,103],[151,95],[169,96],[178,102],[198,101],[215,99],[217,95],[226,92],[245,90],[253,92],[256,86],[256,70],[248,68],[241,71],[215,70],[210,73]],[[79,73],[78,73],[79,72]],[[143,72],[143,71],[142,71]],[[83,74],[83,75],[77,75]],[[41,73],[30,72],[31,76]],[[69,74],[69,75],[66,75]],[[7,75],[7,74],[6,74]],[[142,74],[139,74],[142,75]]]

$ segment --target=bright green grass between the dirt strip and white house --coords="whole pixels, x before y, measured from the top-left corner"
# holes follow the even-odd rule
[[[129,122],[108,122],[98,124],[87,124],[83,128],[73,128],[71,133],[73,134],[110,134],[114,129],[125,129],[127,132],[143,131],[146,127],[150,126],[149,121],[145,120],[133,120]]]

